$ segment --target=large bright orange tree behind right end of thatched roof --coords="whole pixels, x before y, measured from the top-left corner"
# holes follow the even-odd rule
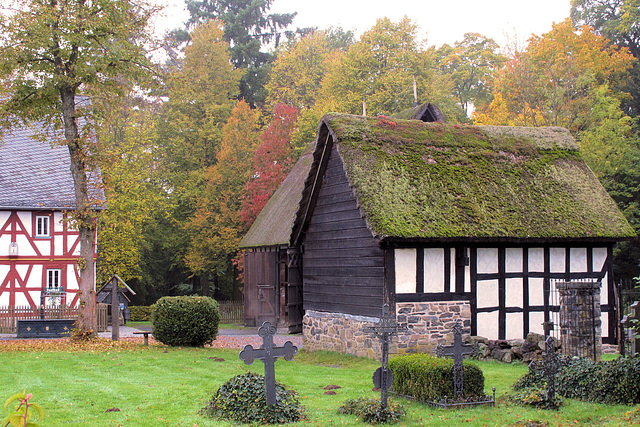
[[[589,126],[590,91],[605,84],[616,86],[632,61],[626,50],[611,46],[590,27],[574,31],[565,20],[529,40],[526,51],[506,64],[496,91],[517,124],[580,131]],[[495,110],[495,105],[487,108]],[[483,111],[476,119],[501,124]]]

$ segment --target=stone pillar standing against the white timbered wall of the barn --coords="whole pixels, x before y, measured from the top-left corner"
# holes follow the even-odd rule
[[[560,342],[565,356],[601,360],[600,282],[557,282]]]

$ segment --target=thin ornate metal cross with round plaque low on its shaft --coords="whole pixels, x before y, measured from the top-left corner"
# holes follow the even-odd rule
[[[382,318],[375,326],[363,328],[363,332],[375,334],[380,340],[382,353],[382,366],[373,374],[373,385],[380,389],[380,406],[388,405],[389,387],[393,384],[393,373],[389,370],[389,342],[391,336],[405,331],[406,326],[396,323],[395,313],[389,313],[389,304],[382,306]]]

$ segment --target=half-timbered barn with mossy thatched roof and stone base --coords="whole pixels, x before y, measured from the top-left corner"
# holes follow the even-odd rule
[[[634,232],[566,129],[329,114],[295,205],[305,348],[372,355],[361,331],[383,304],[408,326],[396,351],[432,350],[455,320],[524,338],[572,281],[598,285],[614,339],[612,248]]]

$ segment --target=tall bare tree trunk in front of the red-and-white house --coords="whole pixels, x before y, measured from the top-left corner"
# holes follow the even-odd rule
[[[78,228],[80,240],[80,259],[77,268],[80,273],[78,295],[80,309],[78,329],[83,335],[97,335],[98,323],[96,318],[95,292],[95,221],[89,200],[89,185],[87,183],[86,147],[80,138],[78,123],[75,115],[75,89],[60,89],[62,101],[62,117],[64,120],[64,137],[71,155],[71,176],[76,197],[74,220]]]

